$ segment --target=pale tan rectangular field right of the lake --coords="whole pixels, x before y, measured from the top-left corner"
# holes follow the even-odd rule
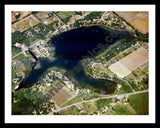
[[[118,77],[123,78],[147,62],[148,51],[144,48],[139,48],[128,56],[111,64],[108,68]]]

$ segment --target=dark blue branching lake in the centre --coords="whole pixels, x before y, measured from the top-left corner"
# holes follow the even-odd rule
[[[110,80],[94,79],[87,76],[80,60],[94,58],[108,46],[122,38],[129,39],[131,38],[131,34],[126,31],[103,29],[99,26],[81,27],[56,35],[48,42],[50,47],[55,48],[54,57],[56,60],[40,59],[37,63],[41,64],[41,68],[33,69],[26,75],[20,83],[19,88],[33,86],[46,69],[58,67],[67,69],[64,75],[68,77],[72,76],[70,80],[75,86],[92,88],[104,94],[112,93],[115,90],[116,83]],[[99,44],[104,47],[99,47]],[[79,70],[77,71],[75,67],[78,67]]]

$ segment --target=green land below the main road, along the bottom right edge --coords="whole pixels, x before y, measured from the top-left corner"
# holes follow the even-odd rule
[[[134,98],[139,98],[142,104],[135,105]],[[131,95],[123,98],[98,99],[89,102],[79,102],[70,108],[61,110],[56,115],[137,115],[148,111],[147,93]],[[142,110],[144,108],[144,111]],[[139,112],[141,111],[141,112]],[[143,112],[142,112],[143,111]]]

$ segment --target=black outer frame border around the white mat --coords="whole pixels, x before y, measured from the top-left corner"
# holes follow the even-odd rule
[[[36,2],[36,1],[35,1]],[[54,4],[44,4],[43,3],[43,1],[39,1],[39,2],[41,2],[40,4],[37,4],[37,3],[34,3],[34,4],[25,4],[25,5],[54,5],[54,4],[56,4],[56,5],[62,5],[62,4],[57,4],[57,3],[54,3]],[[46,2],[46,1],[45,1]],[[54,1],[55,2],[55,1]],[[156,35],[155,35],[155,42],[159,42],[158,41],[158,38],[157,38],[157,33],[158,33],[158,29],[157,28],[159,28],[159,19],[158,19],[158,17],[159,17],[159,5],[160,5],[160,3],[159,3],[159,1],[158,0],[152,0],[152,1],[145,1],[145,2],[147,2],[147,3],[143,3],[143,1],[140,1],[140,0],[136,0],[136,1],[134,1],[134,2],[136,2],[136,3],[132,3],[132,4],[126,4],[125,3],[125,1],[118,1],[116,4],[113,4],[113,1],[107,1],[108,3],[107,4],[96,4],[96,3],[94,3],[93,4],[93,2],[96,2],[96,1],[92,1],[92,4],[73,4],[73,3],[69,3],[68,1],[66,1],[66,3],[64,3],[63,5],[155,5],[155,33],[156,33]],[[137,4],[137,2],[139,2],[138,4]],[[1,40],[2,40],[2,42],[4,42],[5,41],[5,5],[24,5],[24,4],[19,4],[19,3],[17,3],[17,2],[15,2],[15,1],[12,1],[11,3],[8,3],[8,1],[5,3],[5,2],[0,2],[0,12],[1,12],[1,17],[3,17],[4,18],[4,20],[1,20],[1,22],[2,22],[2,27],[1,28],[3,28],[3,30],[1,29],[1,36],[3,37],[3,38],[1,38]],[[4,42],[4,44],[5,44],[5,42]],[[155,48],[157,48],[156,47],[157,46],[157,44],[155,43]],[[3,50],[4,50],[4,74],[3,74],[3,76],[4,76],[4,81],[5,81],[5,45],[4,45],[4,47],[3,47]],[[156,51],[157,51],[157,49],[156,49]],[[156,51],[155,51],[155,60],[156,60]],[[156,62],[155,62],[155,73],[156,73]],[[155,76],[156,76],[156,74],[155,74]],[[156,80],[156,77],[155,77],[155,80]],[[156,82],[156,81],[155,81]],[[5,83],[5,82],[4,82]],[[156,85],[156,83],[155,83],[155,85]],[[0,125],[2,126],[2,127],[6,127],[6,126],[13,126],[13,125],[15,125],[14,123],[5,123],[5,84],[4,84],[4,86],[2,86],[3,87],[3,89],[1,89],[1,91],[2,91],[2,96],[1,96],[1,98],[2,98],[2,101],[3,101],[3,104],[4,105],[1,105],[2,106],[2,109],[1,109],[1,117],[2,117],[2,119],[1,119],[1,122],[0,122]],[[160,127],[160,119],[159,119],[159,109],[157,109],[157,108],[159,108],[159,107],[157,107],[158,106],[158,98],[156,97],[157,95],[158,95],[158,86],[155,86],[156,88],[155,88],[155,90],[156,90],[156,94],[155,94],[155,123],[115,123],[115,124],[113,124],[113,123],[93,123],[94,124],[94,126],[96,126],[97,124],[98,124],[98,126],[99,126],[99,124],[105,124],[105,125],[107,125],[107,126],[111,126],[111,127],[113,127],[113,126],[115,126],[115,127],[120,127],[120,126],[122,126],[123,125],[123,127],[130,127],[130,126],[133,126],[133,127],[142,127],[142,126],[144,126],[144,127],[153,127],[153,128],[158,128],[158,127]],[[2,115],[2,113],[3,113],[3,115]],[[26,125],[27,127],[28,126],[31,126],[31,127],[34,127],[35,125],[37,125],[37,124],[39,124],[39,123],[34,123],[34,124],[32,124],[32,123],[20,123],[19,124],[19,126],[21,127],[22,125]],[[60,123],[50,123],[49,124],[49,126],[50,125],[57,125],[57,124],[60,124]],[[64,125],[64,127],[66,127],[66,123],[62,123],[63,125]],[[86,126],[88,126],[88,123],[81,123],[81,124],[79,124],[79,123],[67,123],[67,124],[76,124],[76,125],[80,125],[81,126],[81,124],[85,124]],[[92,124],[92,123],[89,123],[89,126],[90,126],[90,124]],[[42,124],[40,124],[40,126],[42,126],[42,127],[46,127],[46,123],[42,123]]]

